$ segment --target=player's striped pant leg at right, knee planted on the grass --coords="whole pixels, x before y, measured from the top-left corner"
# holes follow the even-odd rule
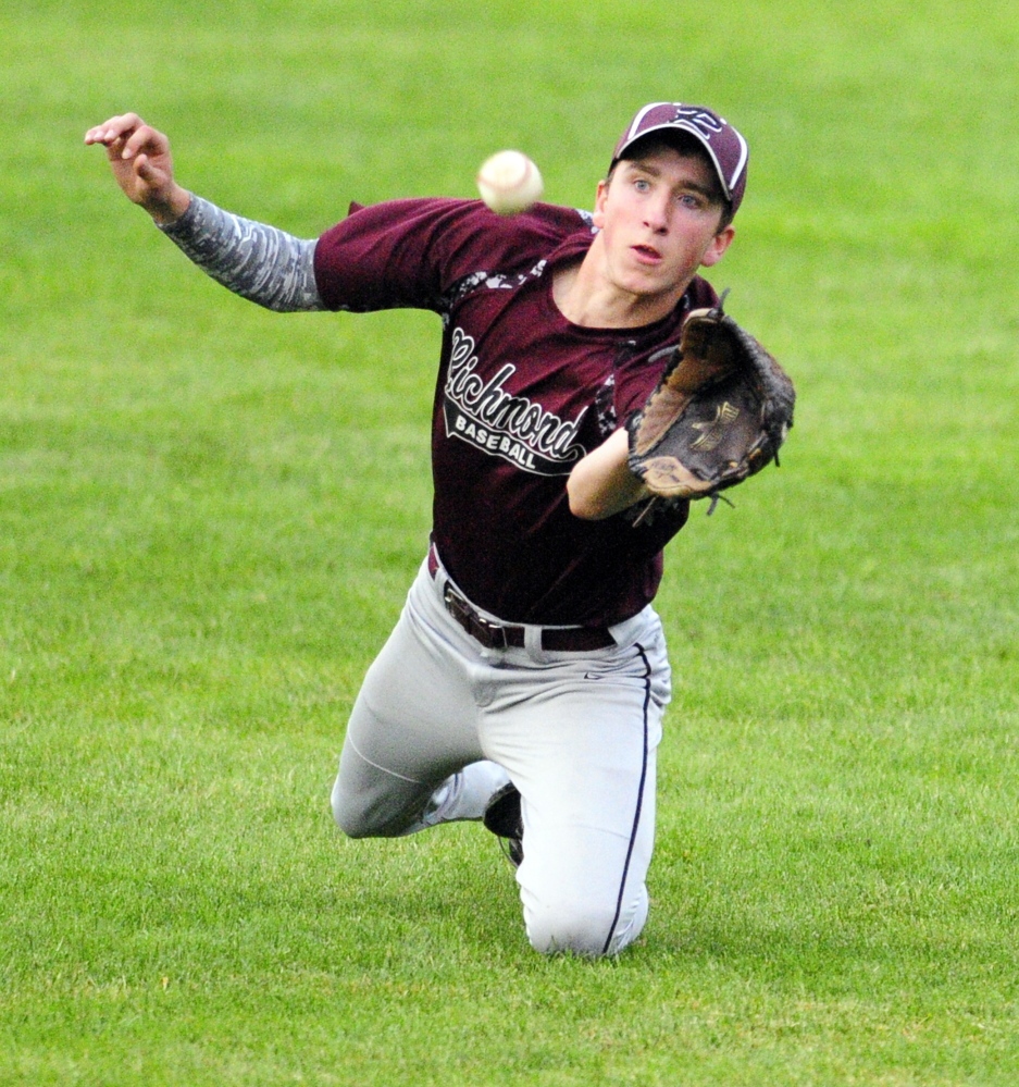
[[[669,697],[663,642],[551,675],[543,696],[486,724],[489,757],[521,793],[517,881],[527,937],[542,952],[614,954],[648,913],[656,752]]]

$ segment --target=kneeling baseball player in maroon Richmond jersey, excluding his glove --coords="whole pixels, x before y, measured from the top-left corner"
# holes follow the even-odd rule
[[[709,109],[645,106],[594,212],[476,200],[351,206],[320,238],[174,180],[136,114],[90,129],[125,194],[231,291],[278,311],[417,307],[443,322],[430,546],[370,667],[333,788],[353,838],[484,819],[543,952],[642,930],[670,697],[651,607],[684,499],[629,467],[625,422],[694,309],[718,301],[747,145]]]

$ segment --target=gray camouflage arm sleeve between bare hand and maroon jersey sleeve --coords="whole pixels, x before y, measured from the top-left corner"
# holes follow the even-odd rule
[[[160,230],[228,291],[277,313],[324,309],[315,285],[315,240],[241,219],[191,195],[187,211]]]

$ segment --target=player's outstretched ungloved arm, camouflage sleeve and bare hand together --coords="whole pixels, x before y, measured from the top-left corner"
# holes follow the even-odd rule
[[[85,143],[105,146],[125,196],[218,283],[277,312],[324,308],[314,274],[316,243],[187,193],[174,181],[170,141],[136,113],[90,128]]]

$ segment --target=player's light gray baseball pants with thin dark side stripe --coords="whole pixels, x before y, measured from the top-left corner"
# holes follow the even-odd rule
[[[647,918],[655,767],[670,670],[647,607],[583,653],[487,650],[446,610],[422,564],[355,703],[333,787],[353,838],[481,818],[507,779],[521,793],[524,922],[543,952],[604,955]],[[482,612],[482,615],[486,613]],[[494,618],[490,617],[489,618]]]

